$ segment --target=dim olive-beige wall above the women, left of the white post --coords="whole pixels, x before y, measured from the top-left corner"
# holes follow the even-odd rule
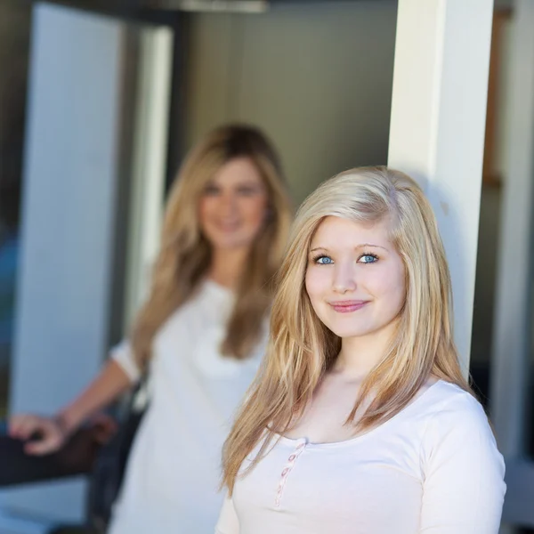
[[[260,125],[296,203],[345,168],[385,164],[397,3],[274,6],[192,17],[188,142],[214,125]]]

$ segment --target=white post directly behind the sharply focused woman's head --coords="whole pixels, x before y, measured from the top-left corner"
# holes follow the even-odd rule
[[[490,65],[492,0],[401,0],[388,164],[416,176],[449,261],[464,372],[474,277]]]

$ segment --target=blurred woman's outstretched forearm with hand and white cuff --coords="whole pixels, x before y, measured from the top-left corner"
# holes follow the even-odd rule
[[[61,409],[56,417],[31,414],[13,416],[9,421],[9,434],[24,441],[35,433],[40,434],[38,441],[27,443],[25,449],[28,454],[49,454],[60,449],[69,435],[88,418],[131,387],[136,379],[134,369],[135,363],[129,347],[126,344],[120,345],[85,391]]]

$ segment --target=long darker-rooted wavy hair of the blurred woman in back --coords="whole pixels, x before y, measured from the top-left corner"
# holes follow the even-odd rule
[[[211,247],[199,228],[198,203],[214,174],[234,158],[249,158],[255,164],[267,186],[269,206],[263,230],[255,239],[239,282],[222,352],[245,359],[261,336],[271,305],[271,279],[287,243],[291,208],[279,158],[271,143],[255,127],[226,125],[215,129],[191,150],[170,191],[150,295],[134,320],[132,331],[134,355],[142,366],[150,359],[158,329],[194,295],[206,276]]]

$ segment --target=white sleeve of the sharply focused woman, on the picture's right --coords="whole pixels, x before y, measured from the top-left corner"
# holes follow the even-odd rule
[[[481,405],[467,393],[429,422],[420,532],[497,534],[505,464]]]

